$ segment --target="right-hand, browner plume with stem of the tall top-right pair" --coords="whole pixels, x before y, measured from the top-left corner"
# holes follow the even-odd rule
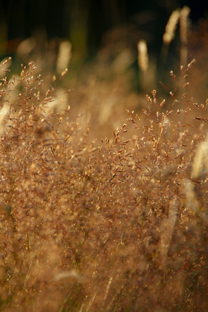
[[[186,66],[187,64],[187,37],[188,37],[188,17],[191,9],[184,6],[180,12],[180,40],[181,40],[181,65]]]

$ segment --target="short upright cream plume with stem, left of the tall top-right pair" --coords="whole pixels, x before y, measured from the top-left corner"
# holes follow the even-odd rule
[[[147,42],[141,39],[137,43],[137,50],[138,50],[138,66],[141,71],[141,86],[144,90],[146,86],[146,71],[148,69],[149,63]]]

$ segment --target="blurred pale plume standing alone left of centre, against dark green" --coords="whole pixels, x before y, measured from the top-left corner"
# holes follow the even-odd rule
[[[68,67],[71,55],[71,42],[68,40],[61,41],[56,61],[56,71],[59,74],[61,74]]]

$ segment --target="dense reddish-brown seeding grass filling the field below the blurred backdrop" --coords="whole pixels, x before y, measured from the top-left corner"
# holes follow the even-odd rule
[[[208,100],[193,105],[194,63],[136,113],[112,110],[114,130],[104,113],[90,130],[69,98],[57,110],[61,80],[46,86],[33,62],[2,78],[1,311],[207,311]]]

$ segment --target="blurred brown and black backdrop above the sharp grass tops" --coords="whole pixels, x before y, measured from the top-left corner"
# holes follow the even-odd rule
[[[178,22],[173,38],[165,43],[172,12],[184,6],[190,8],[184,42]],[[147,48],[144,66],[138,66],[140,40]],[[84,128],[91,124],[92,136],[105,137],[120,127],[128,117],[125,109],[146,108],[145,95],[153,89],[163,100],[168,92],[159,81],[173,86],[169,71],[180,74],[181,56],[184,67],[196,59],[191,69],[193,86],[187,92],[195,102],[204,102],[207,51],[206,1],[0,1],[1,60],[12,56],[8,65],[17,75],[21,63],[25,66],[33,60],[45,91],[54,87],[54,75],[59,77],[68,68],[54,91],[56,109],[70,105],[73,118],[83,114],[80,123]],[[69,89],[73,91],[65,93]]]

